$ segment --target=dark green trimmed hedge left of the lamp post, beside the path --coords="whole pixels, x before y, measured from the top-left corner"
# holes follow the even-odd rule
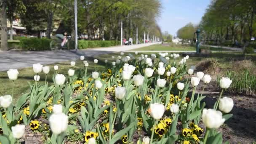
[[[47,38],[22,38],[20,41],[20,47],[24,51],[51,50],[51,40]]]

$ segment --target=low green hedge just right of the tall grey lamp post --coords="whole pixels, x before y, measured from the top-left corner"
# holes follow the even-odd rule
[[[117,40],[78,40],[78,48],[100,48],[119,45]]]

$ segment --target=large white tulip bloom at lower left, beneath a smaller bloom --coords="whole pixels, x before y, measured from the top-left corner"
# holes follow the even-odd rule
[[[62,132],[67,131],[69,119],[68,119],[68,116],[65,115],[64,113],[52,114],[49,118],[49,122],[50,122],[51,131],[54,134],[58,135]]]

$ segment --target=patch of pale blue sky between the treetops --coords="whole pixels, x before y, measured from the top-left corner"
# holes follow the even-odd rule
[[[162,32],[176,35],[179,28],[192,22],[198,24],[211,0],[161,0],[163,10],[157,20]]]

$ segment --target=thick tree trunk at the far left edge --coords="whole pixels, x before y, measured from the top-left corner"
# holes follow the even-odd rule
[[[2,1],[1,13],[1,50],[7,51],[7,19],[6,19],[6,1]]]

